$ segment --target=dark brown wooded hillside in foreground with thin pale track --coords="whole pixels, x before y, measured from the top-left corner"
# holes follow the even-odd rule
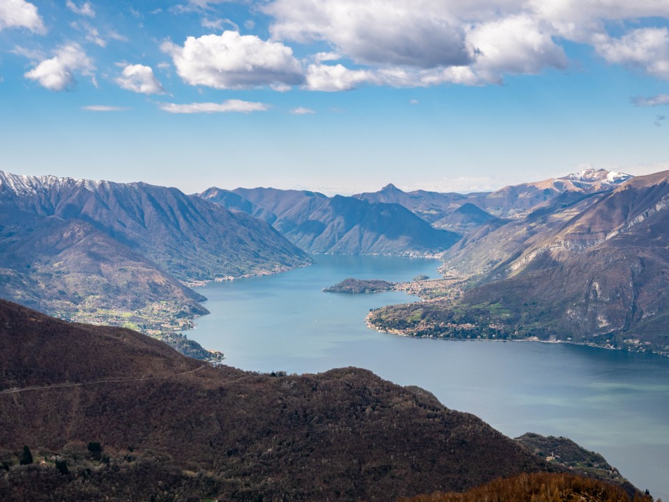
[[[3,500],[390,501],[567,470],[366,370],[243,372],[1,300],[0,374]]]

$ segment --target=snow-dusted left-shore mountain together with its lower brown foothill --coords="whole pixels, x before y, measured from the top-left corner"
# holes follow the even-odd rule
[[[48,312],[206,312],[178,280],[262,273],[308,258],[265,223],[175,188],[0,172],[0,295]]]

